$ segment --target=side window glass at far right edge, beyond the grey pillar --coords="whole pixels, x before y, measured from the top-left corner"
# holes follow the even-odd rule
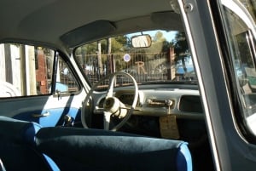
[[[243,1],[254,18],[255,6],[251,1]],[[231,9],[236,7],[230,3],[224,6],[226,31],[229,34],[230,53],[233,60],[233,70],[236,76],[238,92],[241,97],[242,117],[247,121],[247,128],[256,135],[256,56],[255,34],[250,27],[246,14],[237,15]],[[255,22],[255,21],[254,21]]]

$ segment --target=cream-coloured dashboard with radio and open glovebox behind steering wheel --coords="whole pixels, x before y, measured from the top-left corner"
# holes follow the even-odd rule
[[[134,100],[133,89],[115,91],[117,97],[125,106],[131,106]],[[102,113],[105,96],[102,94],[96,100],[95,113]],[[203,109],[198,89],[156,88],[139,89],[137,106],[132,115],[162,117],[175,115],[177,118],[203,119]]]

